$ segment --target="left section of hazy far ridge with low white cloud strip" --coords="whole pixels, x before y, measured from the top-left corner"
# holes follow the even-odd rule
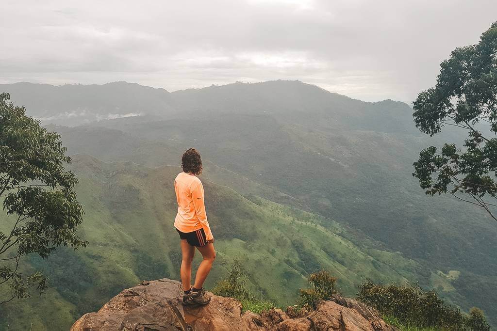
[[[28,115],[47,124],[75,126],[99,120],[172,111],[169,92],[136,83],[54,86],[20,82],[0,84],[0,90],[10,93],[15,104],[25,106]]]

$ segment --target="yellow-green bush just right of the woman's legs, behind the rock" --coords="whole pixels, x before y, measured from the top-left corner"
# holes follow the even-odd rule
[[[212,293],[237,299],[242,303],[245,311],[249,310],[257,314],[274,307],[271,302],[260,300],[250,293],[245,286],[246,281],[247,273],[240,262],[235,259],[228,277],[217,281],[212,288]]]

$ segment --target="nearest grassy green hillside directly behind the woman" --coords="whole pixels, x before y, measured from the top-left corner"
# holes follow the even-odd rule
[[[172,182],[179,168],[104,163],[78,155],[72,169],[86,212],[80,233],[90,246],[77,252],[61,249],[46,261],[32,257],[25,268],[43,268],[53,288],[42,298],[1,307],[4,328],[24,330],[33,323],[33,330],[65,330],[141,279],[179,278],[180,250],[172,227]],[[349,295],[366,277],[404,281],[429,272],[397,253],[368,248],[367,242],[358,247],[332,220],[255,196],[247,199],[207,180],[204,186],[218,251],[207,286],[226,275],[234,258],[249,271],[255,293],[283,306],[295,301],[298,288],[306,286],[305,276],[321,268],[338,276]]]

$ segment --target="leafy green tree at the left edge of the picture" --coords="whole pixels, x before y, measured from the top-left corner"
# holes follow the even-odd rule
[[[21,258],[31,253],[48,258],[57,247],[87,245],[76,235],[83,208],[74,192],[78,181],[64,168],[71,158],[60,135],[8,101],[1,93],[0,199],[8,216],[0,229],[8,230],[0,231],[0,304],[47,288],[41,272],[23,274]]]

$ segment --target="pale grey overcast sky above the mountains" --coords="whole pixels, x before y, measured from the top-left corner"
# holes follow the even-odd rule
[[[477,43],[496,0],[2,0],[0,83],[169,91],[300,79],[410,103]]]

